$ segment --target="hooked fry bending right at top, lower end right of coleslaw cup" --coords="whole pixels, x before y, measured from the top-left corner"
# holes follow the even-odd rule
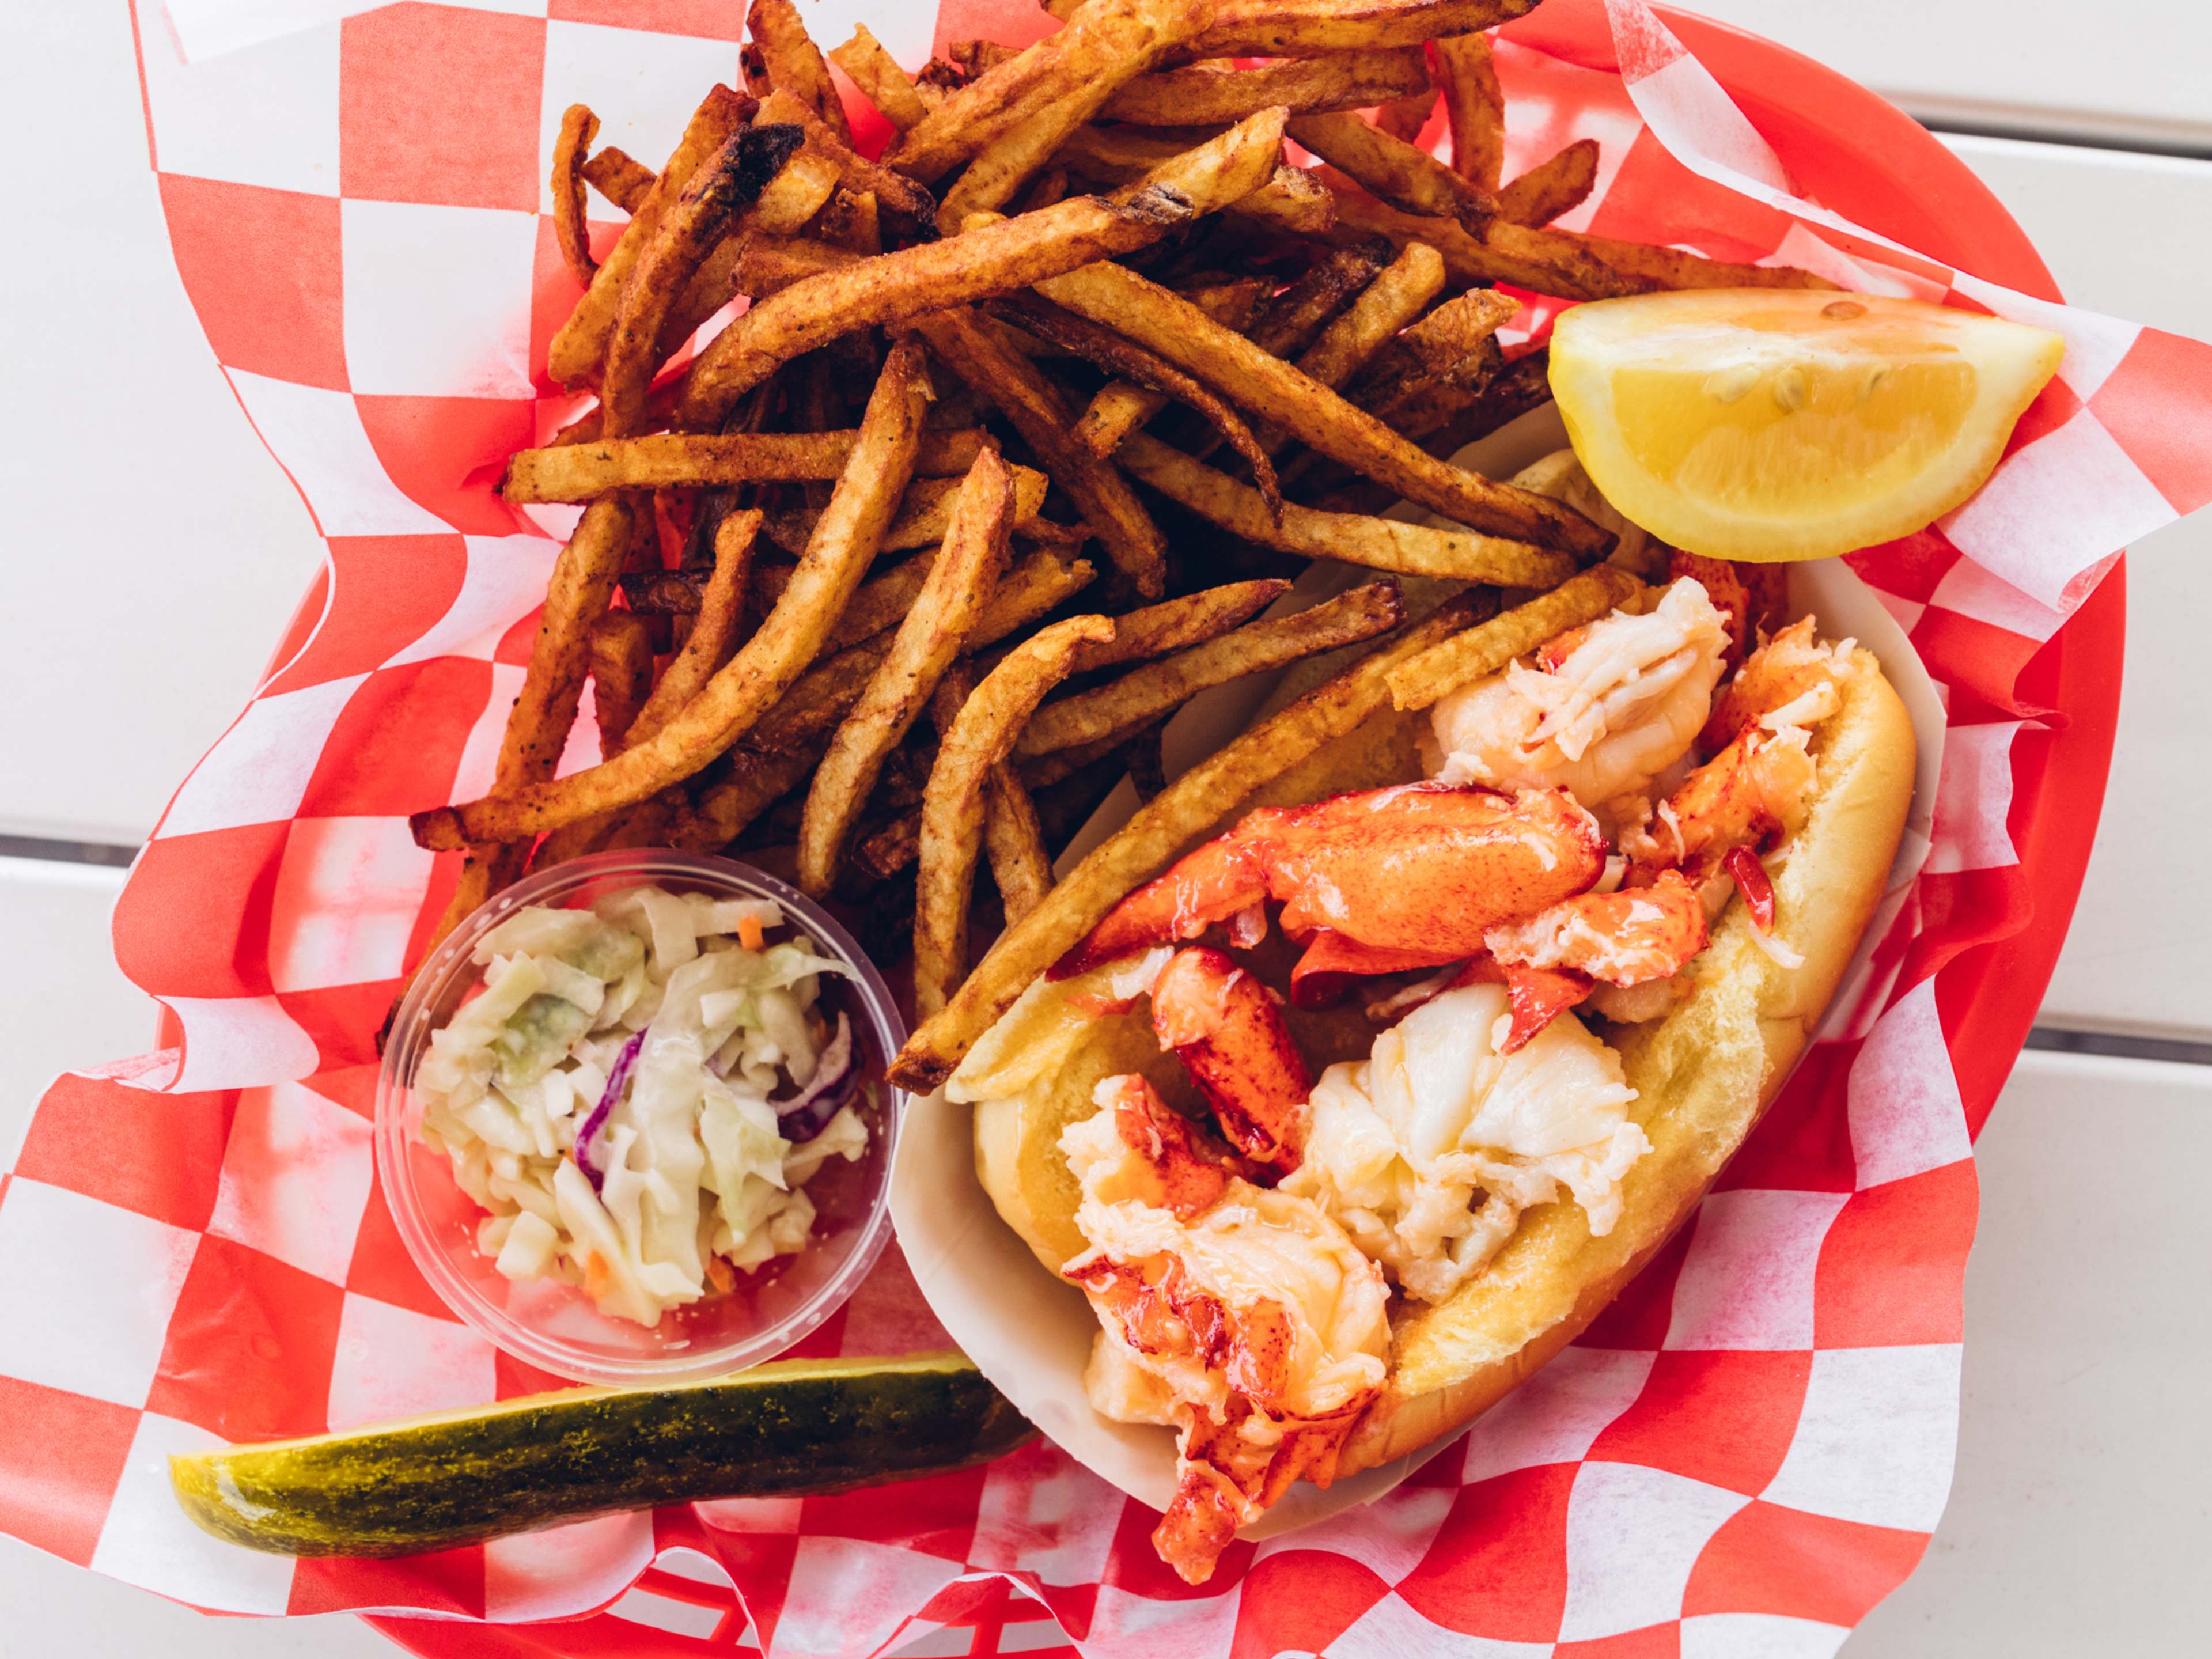
[[[984,787],[1022,723],[1068,677],[1084,644],[1113,639],[1106,617],[1068,617],[1044,628],[984,675],[938,741],[922,792],[920,876],[914,911],[914,1006],[936,1015],[967,971],[969,896],[984,830]]]

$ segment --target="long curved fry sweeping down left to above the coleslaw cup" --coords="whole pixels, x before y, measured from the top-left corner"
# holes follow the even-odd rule
[[[644,801],[688,779],[737,741],[805,672],[860,586],[911,473],[927,400],[922,347],[900,341],[883,365],[852,460],[790,586],[759,633],[675,719],[644,743],[557,783],[533,783],[504,796],[418,812],[411,821],[416,841],[449,847],[557,830],[593,812]],[[602,502],[593,502],[586,518],[599,507]]]

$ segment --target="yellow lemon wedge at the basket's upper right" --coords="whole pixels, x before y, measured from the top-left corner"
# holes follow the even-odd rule
[[[1922,301],[1710,288],[1566,312],[1551,389],[1630,522],[1717,560],[1818,560],[1973,495],[2064,349]]]

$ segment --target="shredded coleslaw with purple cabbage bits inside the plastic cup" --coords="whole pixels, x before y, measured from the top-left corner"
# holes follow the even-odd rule
[[[849,969],[774,900],[531,905],[471,960],[484,978],[416,1088],[500,1274],[655,1325],[807,1245],[807,1181],[867,1150],[865,1068],[823,1006],[823,975]]]

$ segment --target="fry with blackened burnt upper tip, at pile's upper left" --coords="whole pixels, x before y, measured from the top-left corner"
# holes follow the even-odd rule
[[[646,387],[661,365],[661,327],[668,314],[721,241],[730,215],[761,195],[799,144],[796,124],[741,126],[699,166],[675,204],[661,210],[608,332],[599,383],[602,436],[626,438],[646,425]]]

